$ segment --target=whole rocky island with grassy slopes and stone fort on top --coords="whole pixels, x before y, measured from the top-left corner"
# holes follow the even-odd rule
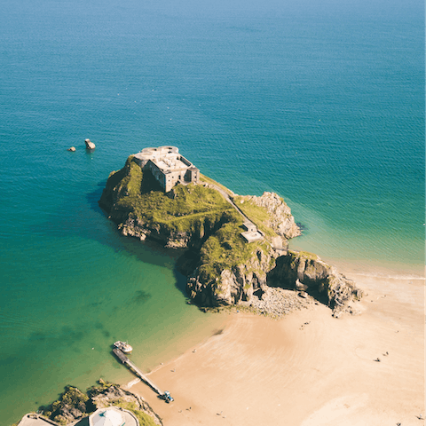
[[[279,195],[237,195],[201,175],[175,146],[130,155],[108,177],[99,205],[122,235],[185,248],[177,267],[187,276],[187,296],[201,307],[256,308],[276,300],[277,291],[297,290],[338,314],[362,296],[319,256],[288,250],[300,229]],[[263,306],[280,314],[273,303]]]

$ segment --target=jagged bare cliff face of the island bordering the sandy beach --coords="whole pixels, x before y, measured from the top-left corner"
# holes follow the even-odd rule
[[[274,250],[257,250],[256,256],[225,269],[217,280],[205,280],[197,269],[187,281],[188,296],[203,306],[248,302],[257,289],[262,294],[268,287],[304,291],[337,311],[362,296],[352,280],[305,252],[277,256]]]

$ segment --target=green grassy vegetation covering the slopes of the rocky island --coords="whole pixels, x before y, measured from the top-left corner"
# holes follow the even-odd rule
[[[185,273],[197,269],[213,299],[220,299],[225,293],[221,286],[224,271],[239,269],[250,277],[264,276],[258,259],[267,258],[267,266],[273,266],[273,260],[268,257],[271,251],[268,239],[277,236],[265,225],[270,219],[267,210],[245,201],[238,206],[265,236],[262,241],[245,241],[241,233],[247,218],[234,209],[224,193],[236,197],[237,202],[242,200],[224,185],[203,175],[200,185],[178,184],[170,193],[164,193],[152,173],[141,170],[130,155],[122,170],[108,178],[99,204],[124,235],[140,239],[151,236],[164,241],[167,247],[193,248],[181,262]],[[243,287],[247,291],[250,280],[244,280]],[[210,298],[205,304],[214,301]]]

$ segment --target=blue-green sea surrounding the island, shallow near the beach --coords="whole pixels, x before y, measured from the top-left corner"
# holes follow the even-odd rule
[[[130,381],[115,340],[149,371],[218,327],[186,304],[175,252],[99,209],[146,146],[235,193],[279,193],[304,229],[292,248],[422,277],[421,0],[0,5],[2,425],[67,384]]]

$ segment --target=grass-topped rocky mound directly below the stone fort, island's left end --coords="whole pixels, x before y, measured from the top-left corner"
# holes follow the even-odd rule
[[[109,176],[99,205],[122,235],[140,241],[149,237],[167,248],[200,244],[236,215],[217,191],[203,185],[177,185],[163,193],[131,156]]]

